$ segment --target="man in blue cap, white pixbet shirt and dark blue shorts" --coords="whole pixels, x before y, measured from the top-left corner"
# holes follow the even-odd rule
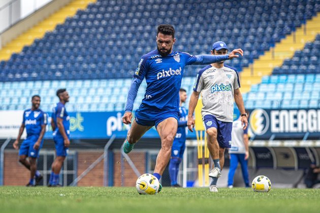
[[[228,47],[224,42],[216,42],[212,46],[212,55],[225,55]],[[224,61],[212,63],[201,69],[197,75],[194,92],[191,94],[188,111],[188,128],[193,131],[195,119],[193,113],[202,93],[203,107],[201,115],[208,135],[208,149],[213,159],[214,168],[209,172],[212,177],[211,192],[218,192],[216,186],[221,169],[225,163],[225,150],[231,148],[231,131],[233,122],[233,101],[241,113],[243,129],[247,128],[248,121],[245,113],[240,81],[237,70],[225,65]]]

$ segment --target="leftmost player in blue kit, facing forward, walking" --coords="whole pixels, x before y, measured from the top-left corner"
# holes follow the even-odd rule
[[[23,140],[19,150],[19,162],[30,170],[30,181],[27,187],[37,186],[42,180],[41,173],[37,170],[37,158],[43,145],[43,135],[46,131],[47,114],[40,110],[41,98],[34,95],[31,98],[31,109],[23,112],[23,122],[19,129],[17,139],[13,143],[13,147],[19,149],[19,140],[26,129],[27,137]],[[29,158],[28,160],[26,158]]]

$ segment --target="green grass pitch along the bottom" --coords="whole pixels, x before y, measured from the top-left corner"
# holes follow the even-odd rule
[[[320,212],[319,189],[164,187],[139,195],[134,187],[0,187],[0,212]]]

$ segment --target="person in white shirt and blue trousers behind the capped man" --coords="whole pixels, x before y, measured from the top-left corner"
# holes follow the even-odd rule
[[[242,176],[245,187],[249,185],[248,175],[248,158],[249,158],[249,139],[248,139],[248,128],[242,129],[241,117],[234,121],[232,124],[232,145],[229,149],[230,154],[230,169],[228,173],[228,187],[233,187],[233,177],[235,175],[238,163],[240,162]]]

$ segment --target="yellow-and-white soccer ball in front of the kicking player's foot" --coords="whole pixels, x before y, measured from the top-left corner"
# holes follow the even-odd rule
[[[159,181],[152,174],[142,174],[136,182],[136,189],[141,195],[156,195],[159,190]]]

